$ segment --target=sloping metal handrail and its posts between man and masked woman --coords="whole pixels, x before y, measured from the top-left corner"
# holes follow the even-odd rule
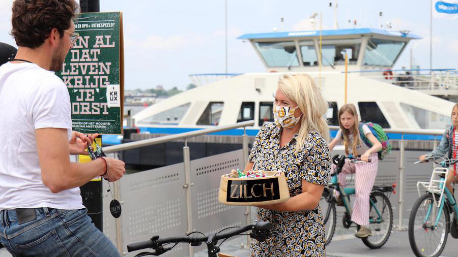
[[[174,140],[180,140],[184,139],[184,147],[183,147],[183,162],[184,162],[184,172],[185,172],[185,185],[184,188],[186,188],[186,210],[187,210],[187,233],[190,233],[192,231],[192,212],[191,212],[191,186],[193,183],[190,181],[190,152],[189,152],[189,146],[187,145],[187,139],[192,138],[192,137],[197,137],[197,136],[202,136],[206,134],[211,134],[211,133],[216,133],[220,131],[226,131],[226,130],[233,130],[235,128],[244,128],[244,133],[242,135],[243,137],[243,163],[246,165],[248,161],[248,136],[246,134],[246,127],[247,126],[252,126],[254,125],[254,120],[248,120],[248,121],[243,121],[239,123],[235,123],[233,125],[225,125],[225,126],[217,126],[217,127],[211,127],[211,128],[205,128],[203,130],[198,130],[198,131],[191,131],[191,132],[186,132],[186,133],[181,133],[181,134],[174,134],[174,135],[169,135],[169,136],[164,136],[164,137],[159,137],[159,138],[152,138],[152,139],[145,139],[145,140],[140,140],[140,141],[134,141],[134,142],[129,142],[129,143],[124,143],[124,144],[119,144],[119,145],[113,145],[113,146],[107,146],[103,148],[103,151],[105,153],[116,153],[119,151],[124,151],[124,150],[129,150],[129,149],[134,149],[134,148],[139,148],[139,147],[144,147],[144,146],[151,146],[155,144],[161,144],[169,141],[174,141]],[[115,181],[115,186],[113,188],[113,194],[115,194],[115,197],[119,199],[120,196],[120,190],[119,190],[119,181]],[[246,212],[248,213],[246,215],[246,223],[249,224],[251,222],[250,220],[250,209],[249,207],[246,207]],[[247,236],[247,245],[249,245],[249,236]],[[122,254],[123,252],[123,246],[122,246],[122,233],[121,233],[121,220],[116,219],[116,243],[117,243],[117,248],[119,252]],[[189,256],[192,257],[194,256],[193,248],[189,246]]]

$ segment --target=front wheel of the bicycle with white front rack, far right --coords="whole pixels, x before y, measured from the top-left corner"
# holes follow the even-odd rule
[[[434,204],[431,193],[421,196],[412,207],[409,218],[409,242],[416,256],[436,257],[444,250],[450,215],[446,206],[441,213],[438,211],[439,208]],[[433,228],[438,215],[439,223]]]

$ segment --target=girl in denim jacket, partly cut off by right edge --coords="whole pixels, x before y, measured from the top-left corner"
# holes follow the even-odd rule
[[[442,136],[442,140],[439,143],[439,146],[425,155],[420,156],[420,160],[423,160],[427,156],[445,156],[448,158],[456,158],[458,157],[458,103],[453,106],[452,113],[451,113],[451,121],[452,125],[447,127],[444,135]],[[453,192],[452,183],[458,181],[458,176],[456,173],[458,172],[458,167],[456,164],[449,168],[449,172],[447,178],[445,180],[445,186],[447,186],[450,192]]]

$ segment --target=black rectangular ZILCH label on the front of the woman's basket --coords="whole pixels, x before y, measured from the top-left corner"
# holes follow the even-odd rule
[[[227,181],[227,202],[251,203],[280,199],[278,178]]]

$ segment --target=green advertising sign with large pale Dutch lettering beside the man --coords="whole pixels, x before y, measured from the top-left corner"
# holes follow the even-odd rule
[[[70,93],[73,130],[121,135],[122,13],[81,13],[74,23],[79,38],[57,73]]]

